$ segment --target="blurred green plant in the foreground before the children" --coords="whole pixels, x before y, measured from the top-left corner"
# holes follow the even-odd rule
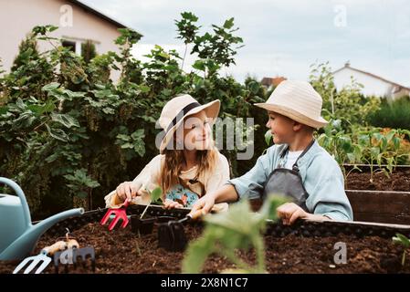
[[[265,247],[262,233],[267,220],[276,220],[282,198],[269,196],[260,213],[253,213],[244,200],[229,207],[226,213],[205,216],[203,235],[188,246],[183,261],[183,273],[200,273],[206,258],[217,253],[226,256],[240,272],[266,273]],[[237,249],[255,248],[257,264],[248,266],[236,254]],[[230,271],[232,272],[232,271]]]

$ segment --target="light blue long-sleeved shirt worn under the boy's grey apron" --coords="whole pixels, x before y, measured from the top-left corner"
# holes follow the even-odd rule
[[[240,199],[261,198],[270,172],[278,167],[286,144],[273,145],[258,158],[244,175],[227,181],[235,186]],[[307,193],[306,206],[311,214],[323,214],[333,220],[352,220],[352,206],[344,192],[344,179],[338,163],[318,144],[313,143],[298,161],[300,177]]]

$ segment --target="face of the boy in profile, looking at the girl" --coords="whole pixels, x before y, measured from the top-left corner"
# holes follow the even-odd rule
[[[268,116],[267,127],[273,135],[273,142],[275,144],[289,144],[294,135],[294,121],[273,111],[268,111]]]

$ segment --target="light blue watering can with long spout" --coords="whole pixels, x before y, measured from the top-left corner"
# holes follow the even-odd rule
[[[0,183],[5,183],[18,195],[0,193],[0,260],[26,257],[48,228],[68,217],[84,214],[83,208],[71,209],[33,225],[26,196],[20,186],[4,177],[0,177]]]

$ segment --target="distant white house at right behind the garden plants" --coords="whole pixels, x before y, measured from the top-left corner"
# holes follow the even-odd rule
[[[363,85],[362,93],[365,96],[385,97],[394,100],[410,94],[410,88],[386,80],[372,73],[352,68],[347,62],[343,68],[333,73],[334,84],[338,90],[351,84],[351,78]]]

